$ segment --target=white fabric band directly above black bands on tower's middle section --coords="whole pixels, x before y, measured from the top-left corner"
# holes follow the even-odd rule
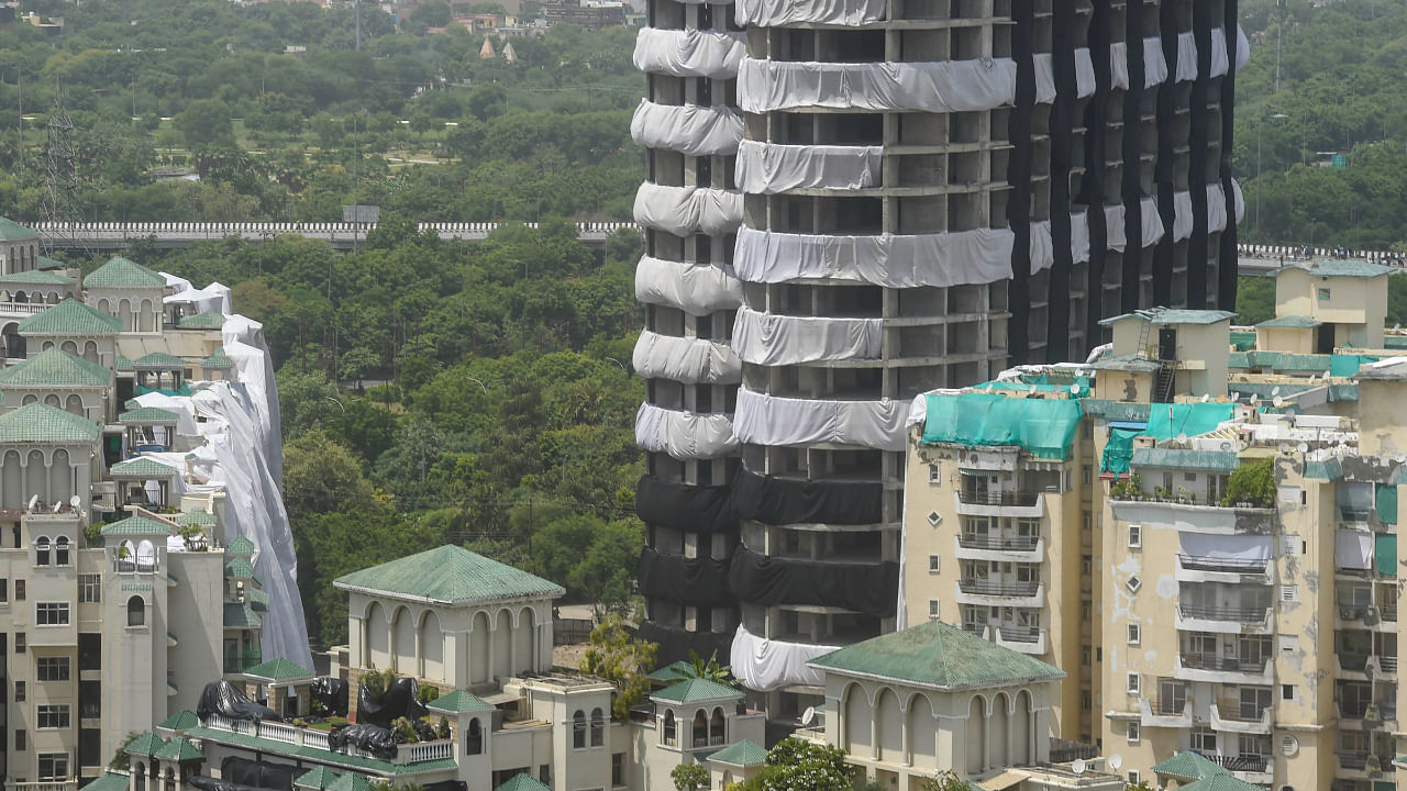
[[[750,445],[860,445],[903,450],[908,401],[781,398],[737,388],[733,431]]]

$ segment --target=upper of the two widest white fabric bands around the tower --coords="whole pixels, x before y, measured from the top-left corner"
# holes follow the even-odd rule
[[[1054,86],[1050,96],[1054,99]],[[817,63],[744,58],[737,70],[737,106],[746,113],[798,107],[992,110],[1016,97],[1016,62]]]

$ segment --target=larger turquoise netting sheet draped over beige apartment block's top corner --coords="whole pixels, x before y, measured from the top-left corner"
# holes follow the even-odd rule
[[[1016,445],[1043,459],[1068,459],[1079,401],[1010,398],[995,393],[929,393],[923,442],[967,448]]]

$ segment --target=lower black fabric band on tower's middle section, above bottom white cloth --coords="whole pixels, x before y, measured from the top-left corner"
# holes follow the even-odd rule
[[[751,604],[843,607],[889,618],[899,595],[899,564],[812,563],[767,557],[740,546],[733,553],[729,583],[737,598]]]

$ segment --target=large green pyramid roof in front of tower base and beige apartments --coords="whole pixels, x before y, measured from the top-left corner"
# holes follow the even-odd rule
[[[1065,673],[941,621],[846,646],[809,663],[874,678],[960,690],[1023,681],[1055,681]]]

